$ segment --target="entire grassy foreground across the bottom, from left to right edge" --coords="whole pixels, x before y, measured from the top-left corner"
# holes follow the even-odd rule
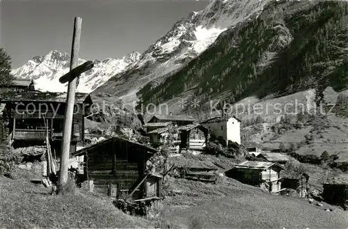
[[[0,228],[347,228],[347,212],[264,193],[235,180],[224,185],[173,179],[160,219],[129,216],[111,200],[78,191],[50,196],[42,185],[0,178]],[[324,211],[325,207],[333,212]],[[166,224],[164,224],[164,222]]]

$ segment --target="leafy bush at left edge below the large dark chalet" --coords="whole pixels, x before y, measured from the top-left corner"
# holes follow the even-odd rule
[[[16,155],[7,147],[0,148],[0,175],[10,175],[11,171],[22,161],[23,157]]]

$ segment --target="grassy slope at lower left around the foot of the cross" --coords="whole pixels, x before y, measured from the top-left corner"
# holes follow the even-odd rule
[[[0,228],[151,228],[110,200],[88,194],[50,196],[42,185],[0,177]]]

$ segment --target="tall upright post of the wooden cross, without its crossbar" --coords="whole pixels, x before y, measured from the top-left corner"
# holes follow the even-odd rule
[[[70,71],[77,67],[79,59],[79,48],[80,48],[80,36],[81,36],[81,24],[82,18],[75,17],[74,19],[74,33],[72,36],[72,49],[70,59]],[[64,129],[63,129],[63,141],[61,146],[61,167],[59,171],[59,184],[65,184],[68,180],[68,161],[70,152],[70,141],[72,134],[72,115],[74,112],[74,100],[76,91],[77,77],[69,81],[68,83],[68,95],[65,106],[64,116]]]

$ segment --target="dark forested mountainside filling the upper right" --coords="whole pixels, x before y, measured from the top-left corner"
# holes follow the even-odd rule
[[[347,1],[271,1],[256,18],[225,31],[198,58],[157,86],[139,91],[145,104],[183,97],[289,95],[347,88]]]

